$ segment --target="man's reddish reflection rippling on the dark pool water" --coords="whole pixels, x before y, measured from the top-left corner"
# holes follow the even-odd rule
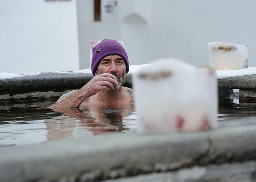
[[[79,124],[80,127],[86,128],[86,130],[91,131],[92,135],[106,134],[111,132],[124,132],[130,129],[123,123],[123,118],[128,118],[132,113],[134,113],[134,108],[132,104],[122,105],[122,106],[90,106],[90,107],[80,107],[80,108],[56,108],[56,112],[63,113],[64,116],[69,116],[65,122]],[[75,120],[79,120],[79,123],[74,123]],[[135,118],[133,118],[134,120]],[[56,119],[47,120],[49,139],[56,139],[56,128],[53,121],[59,122]],[[134,123],[135,124],[135,123]],[[74,128],[64,127],[58,129],[57,131],[65,131],[65,128],[69,128],[69,131],[65,131],[65,136],[70,135]],[[54,133],[54,134],[52,134]],[[60,134],[59,134],[60,135]]]

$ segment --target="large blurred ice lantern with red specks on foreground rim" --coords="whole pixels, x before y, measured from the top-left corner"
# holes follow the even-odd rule
[[[132,76],[140,132],[217,127],[215,73],[176,59],[161,59]]]

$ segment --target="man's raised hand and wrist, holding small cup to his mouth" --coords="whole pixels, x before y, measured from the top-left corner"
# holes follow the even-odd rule
[[[94,95],[101,90],[106,90],[109,92],[109,90],[114,89],[112,84],[116,85],[118,83],[115,78],[116,76],[109,73],[95,75],[90,82],[81,88],[81,90],[90,92],[90,95]]]

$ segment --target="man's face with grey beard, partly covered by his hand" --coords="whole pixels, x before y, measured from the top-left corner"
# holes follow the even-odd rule
[[[124,59],[118,55],[106,56],[99,63],[95,75],[99,75],[102,73],[110,73],[116,76],[118,84],[112,85],[114,86],[114,90],[119,90],[124,84],[126,78],[126,66],[124,63]]]

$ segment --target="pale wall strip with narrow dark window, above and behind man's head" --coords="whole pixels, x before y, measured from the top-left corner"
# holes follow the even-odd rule
[[[119,2],[119,1],[118,1]],[[93,1],[76,1],[78,7],[80,69],[90,68],[90,42],[103,39],[120,39],[117,8],[105,12],[109,1],[101,1],[101,21],[94,21]]]

